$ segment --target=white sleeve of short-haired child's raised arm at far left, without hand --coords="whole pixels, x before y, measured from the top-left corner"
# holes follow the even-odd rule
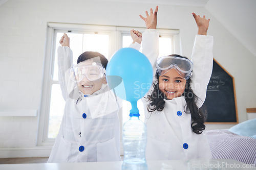
[[[59,85],[62,92],[62,96],[66,101],[69,98],[68,93],[68,81],[70,81],[67,76],[67,71],[73,66],[73,52],[68,46],[58,47],[58,79]],[[74,83],[75,84],[75,83]]]

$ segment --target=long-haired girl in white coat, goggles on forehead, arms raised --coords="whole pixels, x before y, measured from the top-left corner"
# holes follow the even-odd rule
[[[202,133],[205,114],[200,110],[212,71],[213,38],[206,36],[209,19],[193,13],[198,26],[193,63],[170,55],[158,58],[154,65],[158,57],[157,11],[158,7],[154,13],[151,9],[150,15],[146,11],[146,18],[140,15],[147,28],[142,34],[142,52],[157,68],[153,89],[144,100],[146,159],[210,159],[207,136]]]

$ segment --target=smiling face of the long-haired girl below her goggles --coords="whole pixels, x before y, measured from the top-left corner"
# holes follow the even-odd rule
[[[182,78],[176,69],[162,71],[158,81],[159,90],[169,100],[180,97],[185,90],[186,80]]]

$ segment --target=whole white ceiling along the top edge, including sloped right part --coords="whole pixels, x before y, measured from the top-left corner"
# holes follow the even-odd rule
[[[8,0],[0,0],[0,6]],[[256,57],[255,0],[98,0],[203,7]]]

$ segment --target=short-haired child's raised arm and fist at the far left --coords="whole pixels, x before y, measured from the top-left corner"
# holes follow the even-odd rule
[[[68,86],[75,86],[75,83],[69,81],[69,74],[67,71],[73,66],[73,52],[70,49],[70,38],[67,34],[61,37],[58,47],[58,79],[62,92],[62,96],[66,101],[69,98]],[[72,89],[73,87],[71,87]]]

